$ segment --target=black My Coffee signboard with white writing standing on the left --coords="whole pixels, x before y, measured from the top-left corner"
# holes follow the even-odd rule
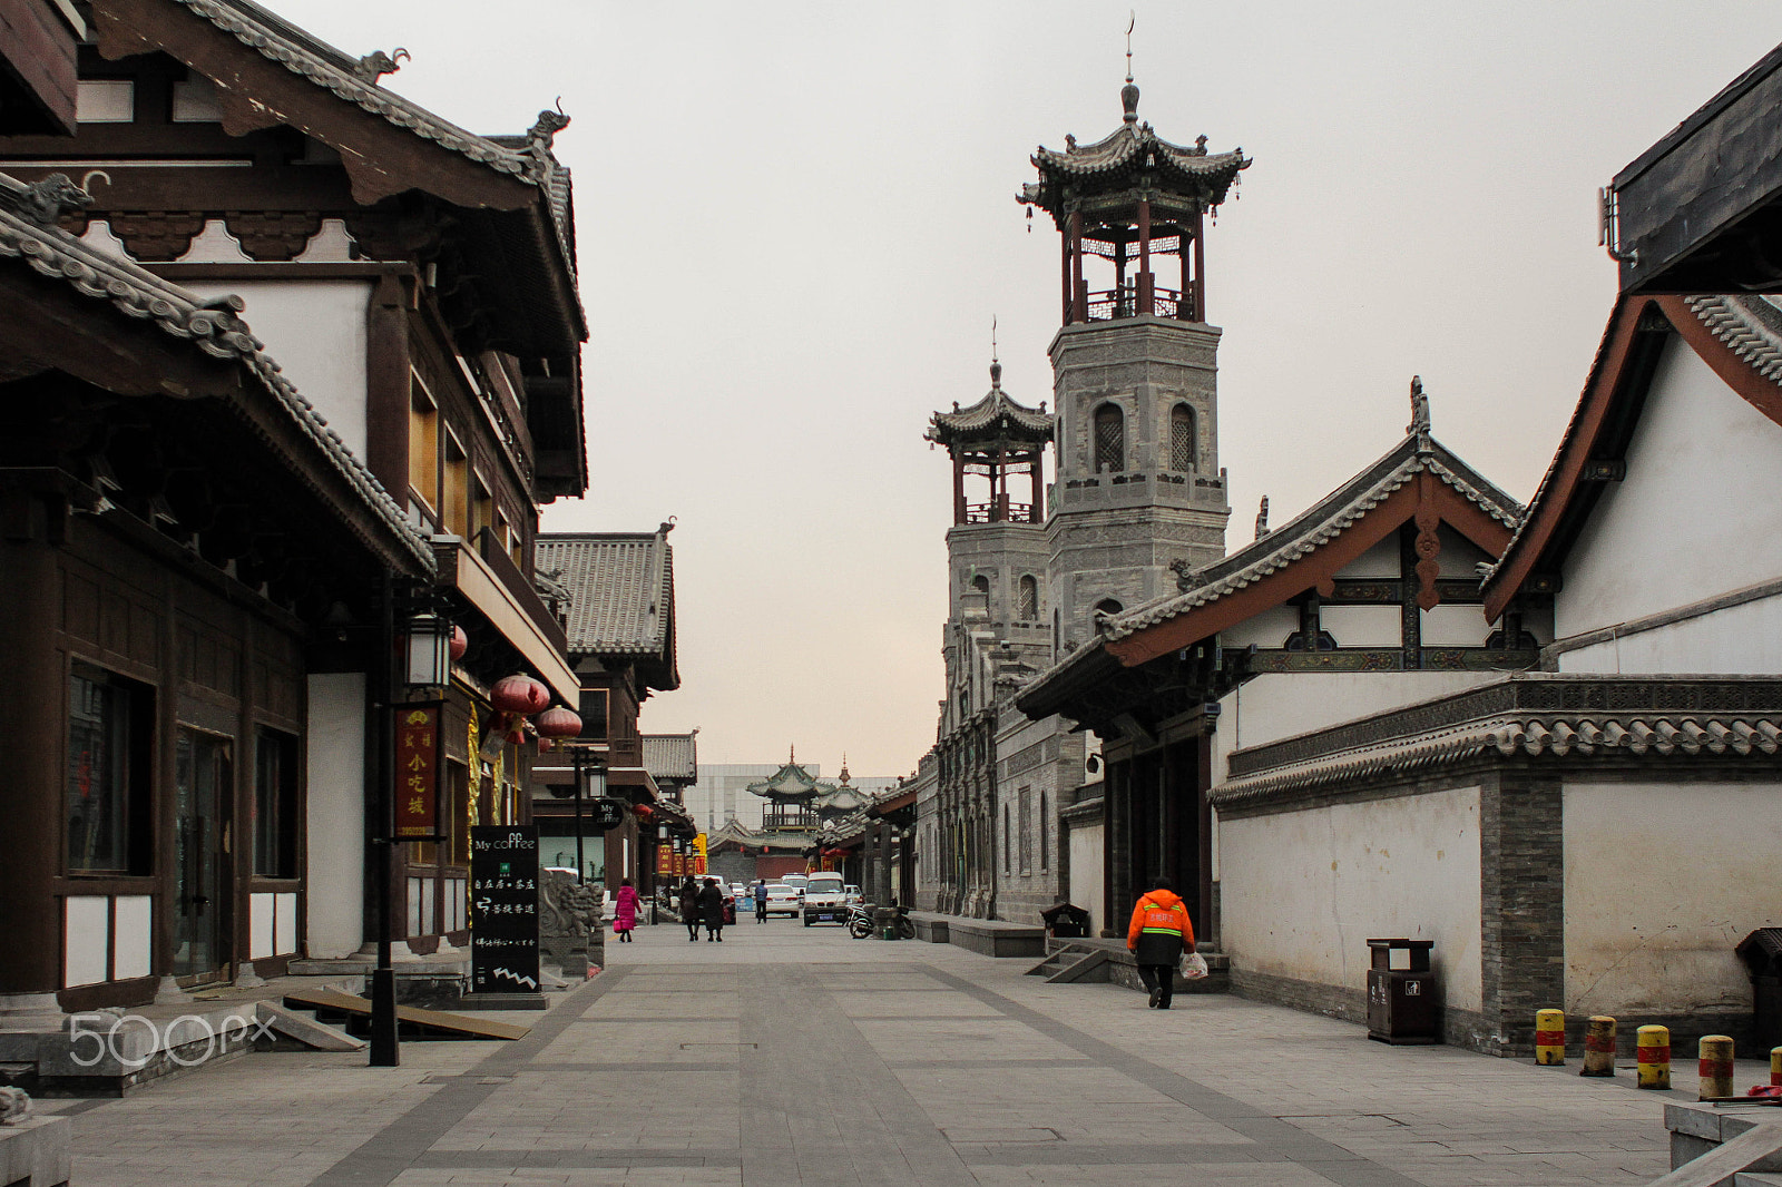
[[[470,829],[470,993],[538,991],[538,827]]]

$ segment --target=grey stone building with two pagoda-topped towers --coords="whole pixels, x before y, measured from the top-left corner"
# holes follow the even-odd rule
[[[1203,244],[1249,159],[1162,139],[1130,78],[1121,107],[1105,139],[1041,148],[1019,196],[1060,233],[1055,413],[1009,399],[993,369],[989,396],[928,428],[955,472],[932,795],[916,781],[916,891],[937,911],[1037,923],[1059,898],[1083,902],[1087,882],[1099,891],[1099,868],[1071,870],[1059,829],[1060,809],[1087,823],[1078,800],[1096,797],[1085,740],[1012,697],[1101,620],[1174,588],[1180,567],[1224,553]],[[1048,442],[1050,504],[1037,485],[1016,503],[1009,478],[1039,474]],[[973,499],[973,483],[987,494]]]

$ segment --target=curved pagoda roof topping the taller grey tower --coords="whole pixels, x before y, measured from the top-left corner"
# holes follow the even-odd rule
[[[1075,196],[1137,187],[1140,175],[1151,176],[1148,189],[1187,198],[1196,209],[1226,200],[1237,175],[1251,164],[1244,150],[1208,153],[1205,135],[1192,148],[1171,144],[1149,123],[1139,123],[1139,89],[1128,84],[1128,91],[1126,121],[1105,139],[1078,144],[1066,137],[1064,151],[1039,146],[1032,157],[1039,182],[1021,187],[1021,203],[1046,210],[1062,225]]]

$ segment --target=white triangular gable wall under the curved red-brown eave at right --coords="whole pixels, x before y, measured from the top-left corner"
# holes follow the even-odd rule
[[[1566,560],[1556,633],[1597,631],[1782,576],[1778,485],[1782,426],[1672,339],[1627,449],[1627,478],[1607,485]],[[1561,659],[1561,670],[1588,668]]]

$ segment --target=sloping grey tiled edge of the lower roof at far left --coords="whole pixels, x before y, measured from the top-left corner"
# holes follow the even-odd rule
[[[46,178],[52,185],[61,175]],[[66,185],[68,178],[61,178]],[[212,358],[239,362],[278,401],[298,428],[315,442],[328,463],[358,492],[421,565],[433,570],[431,544],[415,531],[396,499],[353,456],[340,435],[298,392],[280,365],[266,353],[264,342],[237,314],[241,298],[207,301],[128,260],[94,250],[53,225],[53,214],[34,203],[43,201],[41,187],[0,175],[0,258],[18,260],[32,271],[68,283],[75,292],[103,301],[127,317],[146,321],[171,339],[189,342]],[[53,209],[53,207],[52,207]]]

